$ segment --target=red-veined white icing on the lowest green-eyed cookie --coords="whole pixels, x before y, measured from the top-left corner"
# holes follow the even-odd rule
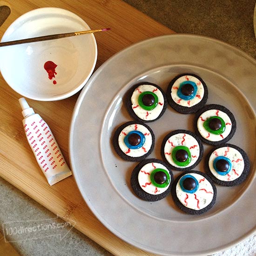
[[[145,192],[147,192],[148,194],[151,194],[151,195],[162,194],[170,186],[170,183],[169,183],[168,186],[166,186],[165,188],[158,188],[151,184],[150,174],[156,168],[161,168],[161,169],[165,169],[166,171],[168,171],[168,169],[161,163],[150,162],[150,163],[145,164],[141,168],[141,170],[139,171],[139,174],[138,174],[138,181],[141,186],[141,189],[143,189]],[[169,171],[168,171],[168,173],[169,173]]]

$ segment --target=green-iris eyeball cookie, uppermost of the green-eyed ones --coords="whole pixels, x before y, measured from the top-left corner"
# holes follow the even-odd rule
[[[143,82],[129,90],[127,108],[135,120],[153,122],[165,112],[167,99],[162,88],[153,83]]]

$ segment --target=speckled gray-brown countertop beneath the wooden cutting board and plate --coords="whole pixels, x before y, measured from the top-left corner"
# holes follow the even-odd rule
[[[254,0],[192,1],[192,0],[125,0],[177,33],[210,36],[231,45],[256,58],[256,39],[253,30]],[[1,2],[0,2],[1,3]],[[56,216],[0,178],[0,222],[45,220]],[[12,243],[20,255],[111,255],[97,243],[76,229],[67,230],[60,240],[57,236]],[[238,254],[237,254],[238,253]],[[216,254],[256,255],[256,236],[239,245]]]

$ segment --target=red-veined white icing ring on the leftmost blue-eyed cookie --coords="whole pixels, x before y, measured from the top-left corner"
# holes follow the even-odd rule
[[[145,136],[145,142],[141,148],[137,149],[131,149],[126,146],[124,143],[124,138],[126,135],[128,135],[129,132],[131,131],[140,131],[142,134]],[[121,148],[122,152],[125,153],[126,155],[132,156],[132,157],[139,157],[142,155],[145,155],[148,153],[148,150],[151,148],[152,145],[152,135],[148,128],[141,124],[131,124],[122,129],[119,137],[118,137],[118,144],[119,147]]]

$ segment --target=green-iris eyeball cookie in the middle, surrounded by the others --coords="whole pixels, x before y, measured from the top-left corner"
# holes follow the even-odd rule
[[[175,130],[163,139],[161,154],[172,169],[189,171],[201,161],[203,146],[194,133]]]

